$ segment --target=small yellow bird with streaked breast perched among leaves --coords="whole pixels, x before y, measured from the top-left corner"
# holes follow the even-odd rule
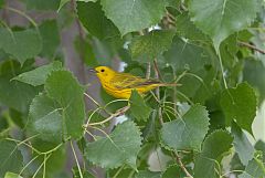
[[[96,73],[103,88],[116,98],[129,100],[132,90],[144,95],[158,86],[176,86],[176,84],[162,83],[152,78],[142,78],[129,73],[119,73],[107,66],[97,66],[89,71]]]

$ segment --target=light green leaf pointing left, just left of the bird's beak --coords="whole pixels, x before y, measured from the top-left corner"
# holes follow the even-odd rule
[[[62,69],[62,63],[59,61],[54,61],[51,64],[42,65],[35,70],[24,72],[15,76],[13,80],[30,84],[32,86],[43,85],[47,78],[47,75],[52,71],[56,71],[60,69]]]

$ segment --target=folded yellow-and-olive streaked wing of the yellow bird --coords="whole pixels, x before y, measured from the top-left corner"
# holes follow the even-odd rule
[[[160,83],[159,81],[156,80],[147,80],[127,73],[119,73],[115,75],[115,77],[110,82],[113,86],[118,90],[137,88]]]

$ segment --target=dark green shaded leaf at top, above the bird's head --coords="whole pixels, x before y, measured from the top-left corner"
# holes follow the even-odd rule
[[[99,40],[120,39],[118,29],[105,17],[99,2],[77,2],[77,14],[87,31]]]

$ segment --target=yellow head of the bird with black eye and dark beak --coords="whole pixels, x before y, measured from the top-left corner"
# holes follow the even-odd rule
[[[109,82],[116,73],[114,70],[112,70],[108,66],[97,66],[91,71],[96,73],[97,77],[102,82]]]

